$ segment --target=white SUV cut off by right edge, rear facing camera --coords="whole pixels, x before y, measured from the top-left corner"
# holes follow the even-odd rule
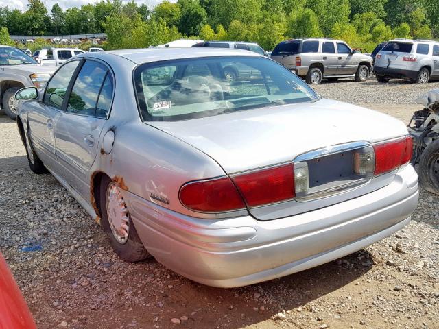
[[[426,84],[439,78],[439,42],[396,39],[377,53],[374,66],[378,82],[399,78]]]

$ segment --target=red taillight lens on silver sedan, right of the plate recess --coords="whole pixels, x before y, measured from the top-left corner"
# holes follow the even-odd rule
[[[374,145],[375,171],[374,175],[392,171],[412,158],[412,138],[405,137],[397,141]]]

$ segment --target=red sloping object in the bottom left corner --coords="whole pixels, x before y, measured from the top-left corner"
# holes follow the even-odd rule
[[[36,329],[25,299],[1,253],[0,329]]]

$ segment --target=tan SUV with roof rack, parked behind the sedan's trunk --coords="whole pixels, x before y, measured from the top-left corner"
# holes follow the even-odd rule
[[[366,81],[372,68],[370,56],[357,53],[342,40],[327,38],[283,41],[274,48],[271,58],[305,77],[308,84],[320,84],[322,79],[335,81],[339,77]]]

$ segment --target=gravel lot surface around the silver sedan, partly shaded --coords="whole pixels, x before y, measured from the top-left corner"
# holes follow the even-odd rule
[[[337,82],[316,90],[406,121],[413,99],[438,87]],[[388,239],[285,278],[216,289],[155,260],[119,260],[51,175],[29,171],[3,115],[0,177],[0,249],[38,328],[438,328],[439,199],[425,191],[412,223]]]

